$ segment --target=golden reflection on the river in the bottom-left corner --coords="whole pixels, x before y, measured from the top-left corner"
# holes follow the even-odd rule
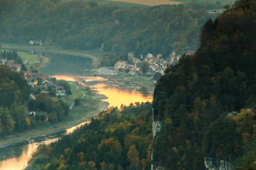
[[[23,148],[23,152],[20,157],[14,157],[10,159],[6,159],[0,162],[1,170],[23,170],[28,166],[28,161],[31,159],[32,154],[36,152],[37,148],[41,144],[50,144],[51,142],[55,142],[56,139],[49,139],[41,143],[30,143],[27,147]]]

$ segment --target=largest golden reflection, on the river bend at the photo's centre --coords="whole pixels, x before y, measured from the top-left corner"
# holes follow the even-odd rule
[[[135,102],[151,102],[153,100],[152,96],[143,96],[142,94],[137,93],[136,91],[122,91],[114,88],[106,88],[105,84],[96,84],[92,86],[92,88],[99,91],[99,94],[104,94],[107,96],[107,99],[102,101],[107,101],[110,103],[110,106],[121,106],[126,105],[129,106],[129,103]]]

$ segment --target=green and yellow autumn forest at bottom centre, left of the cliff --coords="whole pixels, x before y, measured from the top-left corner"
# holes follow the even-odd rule
[[[41,146],[27,169],[150,169],[151,103],[108,108],[89,124]]]

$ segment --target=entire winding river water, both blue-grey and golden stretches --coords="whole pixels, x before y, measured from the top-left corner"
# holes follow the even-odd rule
[[[111,83],[107,82],[102,77],[90,77],[86,70],[92,69],[92,60],[68,55],[51,55],[49,64],[41,69],[43,74],[56,77],[56,79],[65,79],[67,81],[79,81],[82,84],[82,79],[85,79],[85,85],[98,91],[99,94],[107,96],[107,101],[110,106],[121,106],[121,104],[129,105],[134,102],[146,102],[152,100],[152,96],[138,91],[122,91],[114,86],[108,86]],[[89,123],[85,121],[80,125]],[[69,134],[78,128],[80,125],[74,126],[67,130],[55,132],[50,135],[39,137],[31,137],[22,142],[16,142],[7,147],[0,146],[0,170],[22,170],[28,165],[31,155],[36,152],[39,145],[50,144],[58,140],[63,135]]]

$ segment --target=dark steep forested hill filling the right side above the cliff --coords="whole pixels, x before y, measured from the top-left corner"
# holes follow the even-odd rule
[[[154,139],[156,167],[205,169],[204,157],[218,157],[256,169],[255,28],[255,1],[235,2],[206,22],[196,54],[161,77],[153,102],[154,118],[163,122]]]

